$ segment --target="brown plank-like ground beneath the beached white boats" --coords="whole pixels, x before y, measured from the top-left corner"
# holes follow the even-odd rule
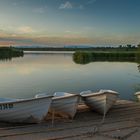
[[[140,137],[140,104],[127,100],[118,100],[107,113],[105,122],[99,125],[102,115],[91,111],[86,105],[78,106],[74,120],[51,118],[41,124],[2,126],[2,140],[139,140]],[[8,124],[9,125],[9,124]],[[97,131],[97,126],[98,131]]]

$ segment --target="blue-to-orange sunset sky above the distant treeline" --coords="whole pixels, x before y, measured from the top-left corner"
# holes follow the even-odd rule
[[[0,46],[140,43],[140,0],[0,0]]]

